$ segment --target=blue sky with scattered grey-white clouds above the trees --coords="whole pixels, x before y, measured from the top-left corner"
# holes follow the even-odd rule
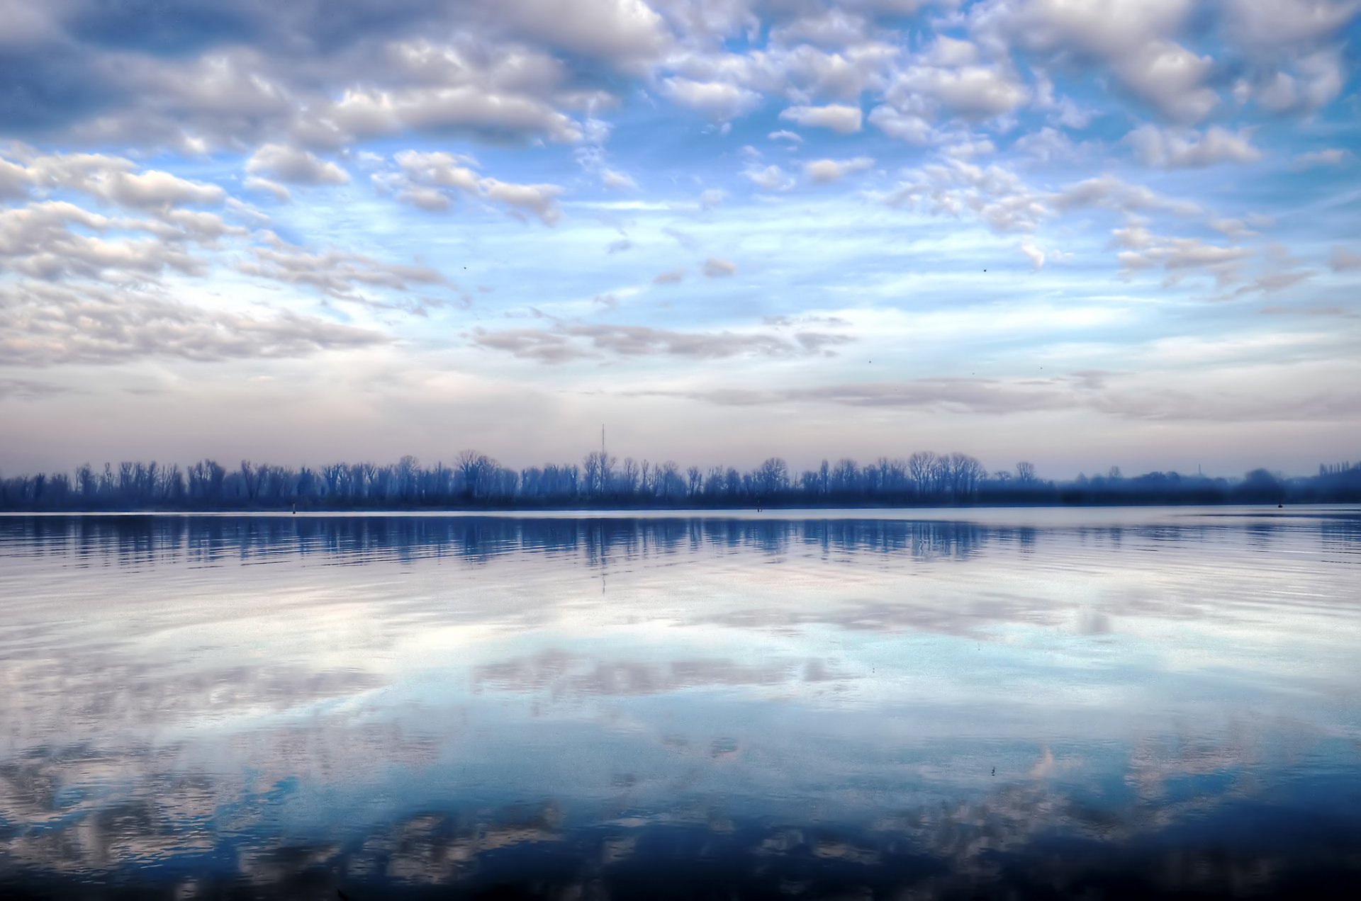
[[[0,22],[0,474],[1361,457],[1358,0]]]

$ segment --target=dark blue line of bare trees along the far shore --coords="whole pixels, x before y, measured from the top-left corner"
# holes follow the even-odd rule
[[[592,450],[580,464],[512,470],[476,450],[452,464],[335,463],[323,467],[201,460],[86,464],[75,472],[0,478],[0,510],[347,510],[548,508],[938,506],[1082,504],[1275,504],[1361,501],[1361,464],[1327,464],[1308,478],[1253,470],[1243,479],[1147,472],[1068,482],[1043,479],[1030,463],[987,472],[965,453],[906,459],[823,460],[793,472],[770,457],[746,472],[680,468],[675,461],[622,463]]]

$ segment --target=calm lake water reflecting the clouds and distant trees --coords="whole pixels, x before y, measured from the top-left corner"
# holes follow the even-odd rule
[[[0,897],[1361,897],[1361,514],[911,516],[0,517]]]

